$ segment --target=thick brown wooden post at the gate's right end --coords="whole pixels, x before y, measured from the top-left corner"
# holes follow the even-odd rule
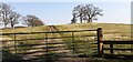
[[[103,56],[102,28],[98,28],[96,33],[98,33],[98,54],[99,56]]]

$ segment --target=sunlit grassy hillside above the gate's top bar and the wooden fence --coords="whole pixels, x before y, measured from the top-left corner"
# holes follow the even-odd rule
[[[133,24],[132,24],[133,25]],[[54,25],[58,31],[86,30],[86,29],[103,29],[104,40],[131,40],[131,24],[119,23],[76,23]],[[48,25],[34,28],[18,28],[0,30],[2,33],[18,33],[18,32],[47,32]]]

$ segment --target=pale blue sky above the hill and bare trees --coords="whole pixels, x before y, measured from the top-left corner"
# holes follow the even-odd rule
[[[93,3],[103,10],[103,17],[99,17],[98,21],[94,22],[105,22],[105,23],[131,23],[131,2],[130,0],[120,1],[84,1],[83,2],[41,2],[32,0],[32,2],[18,0],[18,1],[6,1],[8,4],[13,7],[14,11],[22,16],[35,14],[47,24],[66,24],[70,23],[72,19],[73,7],[78,4]],[[52,1],[52,0],[49,0]],[[102,0],[103,1],[103,0]]]

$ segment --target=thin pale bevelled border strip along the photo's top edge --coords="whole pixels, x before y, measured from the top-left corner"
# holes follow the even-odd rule
[[[1,0],[3,2],[131,2],[132,0]]]

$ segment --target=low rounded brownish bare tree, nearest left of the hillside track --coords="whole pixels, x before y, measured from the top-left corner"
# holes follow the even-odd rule
[[[43,22],[39,20],[38,17],[28,14],[27,17],[22,17],[23,23],[28,27],[37,27],[37,25],[43,25]]]

